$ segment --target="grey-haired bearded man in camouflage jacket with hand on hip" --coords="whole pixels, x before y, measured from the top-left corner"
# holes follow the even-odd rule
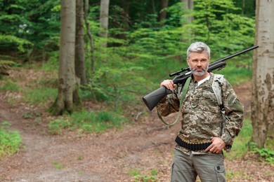
[[[239,134],[243,121],[243,106],[233,87],[223,78],[222,101],[226,126],[222,130],[223,115],[212,90],[214,73],[208,72],[210,48],[195,42],[187,50],[187,62],[192,80],[181,106],[181,130],[176,137],[171,181],[226,181],[223,150],[229,151]],[[172,80],[161,86],[173,90],[164,97],[157,109],[162,116],[179,111],[181,93]],[[178,93],[179,92],[179,93]],[[222,132],[223,131],[223,132]]]

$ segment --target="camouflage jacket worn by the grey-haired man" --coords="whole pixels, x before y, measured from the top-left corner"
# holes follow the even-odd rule
[[[237,99],[233,87],[226,78],[223,79],[222,99],[226,109],[228,121],[223,134],[221,135],[221,123],[223,116],[218,106],[216,96],[211,88],[214,80],[214,73],[210,73],[209,80],[199,86],[194,80],[190,81],[188,92],[183,99],[181,130],[178,137],[190,143],[210,142],[212,137],[220,137],[227,145],[233,144],[233,139],[239,134],[243,121],[243,106]],[[181,93],[178,88],[172,94],[164,97],[157,105],[162,116],[178,112]],[[221,136],[220,136],[221,135]],[[176,145],[176,148],[187,153],[188,149]],[[201,154],[204,151],[193,153]]]

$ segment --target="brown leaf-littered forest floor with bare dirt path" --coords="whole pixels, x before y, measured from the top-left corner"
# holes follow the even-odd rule
[[[41,76],[46,75],[32,69],[10,71],[10,78],[22,80],[20,87]],[[250,116],[251,83],[235,86],[235,92]],[[0,122],[8,121],[11,130],[20,132],[23,146],[19,153],[0,160],[0,181],[169,181],[179,123],[165,127],[152,111],[122,129],[52,135],[47,125],[53,116],[46,106],[10,104],[9,94],[0,92]],[[25,117],[36,113],[39,120]],[[225,162],[228,181],[274,181],[274,167],[250,155]]]

